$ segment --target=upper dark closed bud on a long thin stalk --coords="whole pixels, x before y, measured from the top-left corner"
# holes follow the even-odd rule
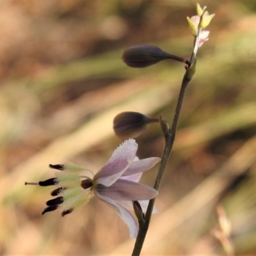
[[[177,60],[189,64],[189,61],[162,51],[155,45],[133,45],[126,49],[122,55],[124,63],[132,68],[145,68],[161,60]]]

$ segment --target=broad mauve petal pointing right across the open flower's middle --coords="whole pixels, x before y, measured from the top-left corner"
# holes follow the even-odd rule
[[[118,201],[148,200],[155,198],[158,194],[154,188],[124,179],[117,180],[110,187],[98,184],[95,190],[102,196]]]

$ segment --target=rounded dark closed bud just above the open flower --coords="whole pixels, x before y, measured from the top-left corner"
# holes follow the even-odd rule
[[[136,138],[145,131],[151,123],[159,122],[159,118],[153,118],[138,112],[122,112],[114,118],[114,131],[121,139]]]

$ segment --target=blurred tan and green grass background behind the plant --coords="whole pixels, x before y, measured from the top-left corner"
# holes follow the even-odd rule
[[[155,44],[189,58],[186,17],[195,4],[0,2],[1,255],[131,254],[134,239],[108,205],[92,198],[77,214],[42,216],[52,189],[24,182],[52,177],[49,163],[97,172],[121,142],[112,129],[117,113],[161,113],[172,122],[182,64],[133,69],[120,56],[130,45]],[[216,17],[198,53],[144,255],[223,255],[212,236],[217,202],[232,224],[236,255],[256,255],[256,2],[200,4]],[[157,124],[137,142],[140,158],[161,156]],[[156,172],[141,181],[152,186]]]

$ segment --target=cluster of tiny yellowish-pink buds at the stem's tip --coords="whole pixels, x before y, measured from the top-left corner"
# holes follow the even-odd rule
[[[204,42],[208,40],[210,33],[210,31],[204,30],[204,28],[210,24],[215,14],[210,15],[209,12],[206,11],[206,6],[201,8],[200,4],[196,4],[196,13],[197,15],[191,18],[187,17],[187,19],[191,33],[195,38],[197,36],[199,37],[198,47],[201,47]]]

